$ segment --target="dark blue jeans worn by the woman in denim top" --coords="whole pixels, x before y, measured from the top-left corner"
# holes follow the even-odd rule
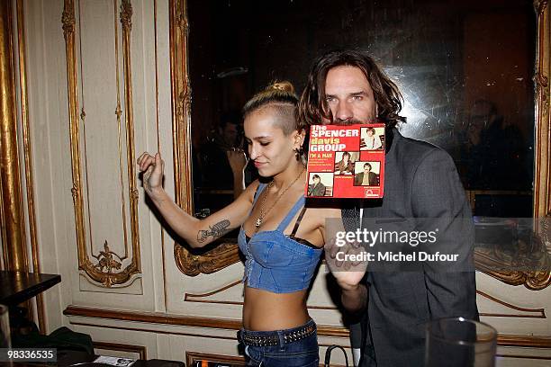
[[[248,331],[249,336],[279,336],[281,343],[269,346],[245,345],[247,365],[262,367],[318,367],[320,363],[320,351],[316,332],[301,340],[291,343],[283,342],[285,334],[310,325],[315,327],[313,320],[308,321],[302,327],[285,330]]]

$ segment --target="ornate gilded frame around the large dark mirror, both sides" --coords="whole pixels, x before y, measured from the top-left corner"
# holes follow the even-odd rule
[[[534,218],[551,217],[551,121],[549,120],[549,71],[551,55],[551,20],[547,0],[536,1],[537,12],[537,55],[536,74],[536,144]],[[170,52],[173,101],[173,139],[176,202],[188,213],[193,212],[193,184],[191,172],[191,87],[188,75],[189,23],[185,0],[170,1]],[[544,238],[545,239],[545,238]],[[551,238],[547,238],[551,241]],[[541,264],[538,271],[495,271],[495,259],[476,253],[476,268],[511,285],[524,284],[529,289],[546,288],[551,283],[551,254],[542,243]],[[221,243],[212,250],[194,255],[185,246],[175,243],[174,255],[178,268],[186,275],[214,273],[239,261],[238,246],[235,243]],[[499,266],[497,266],[499,267]],[[501,266],[502,267],[502,266]]]

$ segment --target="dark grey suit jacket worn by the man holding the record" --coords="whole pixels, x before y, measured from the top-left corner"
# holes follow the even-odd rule
[[[423,366],[427,321],[478,318],[474,225],[456,166],[441,148],[403,138],[395,129],[387,136],[391,134],[393,141],[385,157],[384,198],[363,202],[362,227],[377,230],[385,222],[391,227],[400,223],[403,230],[438,228],[438,248],[458,254],[459,261],[407,264],[407,271],[400,266],[392,271],[368,266],[362,367]],[[347,230],[356,229],[358,216],[357,208],[343,210]],[[406,245],[403,249],[412,248]]]

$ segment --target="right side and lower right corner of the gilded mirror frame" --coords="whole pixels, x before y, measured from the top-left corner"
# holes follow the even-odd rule
[[[551,62],[551,19],[547,0],[534,2],[537,13],[537,49],[534,84],[536,85],[536,123],[534,151],[534,228],[537,241],[522,246],[514,255],[495,254],[476,249],[476,269],[510,285],[524,284],[530,290],[541,290],[551,283],[551,121],[549,120],[549,71]],[[528,270],[496,270],[522,268]]]

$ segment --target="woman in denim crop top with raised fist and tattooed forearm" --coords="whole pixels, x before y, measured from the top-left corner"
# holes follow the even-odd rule
[[[245,136],[261,180],[206,219],[189,216],[167,196],[158,153],[144,153],[138,160],[149,197],[190,246],[205,246],[240,227],[239,249],[246,263],[239,338],[253,366],[319,363],[316,325],[306,309],[307,289],[320,260],[325,220],[340,218],[340,210],[308,209],[304,215],[305,126],[294,118],[297,101],[289,83],[271,85],[248,101],[243,108]]]

